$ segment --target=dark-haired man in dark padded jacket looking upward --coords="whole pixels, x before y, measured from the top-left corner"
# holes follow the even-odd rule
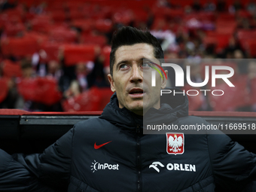
[[[225,191],[244,189],[255,177],[256,157],[224,134],[184,135],[177,155],[166,151],[166,135],[143,135],[142,117],[177,125],[206,123],[187,116],[187,98],[160,105],[166,79],[157,75],[157,86],[151,87],[152,69],[143,62],[157,58],[163,58],[163,50],[153,35],[121,28],[112,40],[108,75],[115,93],[102,115],[76,123],[43,154],[15,159],[42,183],[68,183],[69,191],[215,191],[215,184]],[[0,166],[0,190],[6,176]]]

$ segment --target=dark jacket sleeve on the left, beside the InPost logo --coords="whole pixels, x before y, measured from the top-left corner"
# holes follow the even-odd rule
[[[14,160],[26,167],[42,183],[64,190],[69,184],[74,132],[75,127],[46,148],[43,154],[14,154]]]

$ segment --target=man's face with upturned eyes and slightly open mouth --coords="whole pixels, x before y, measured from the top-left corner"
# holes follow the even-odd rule
[[[121,46],[115,52],[113,77],[108,75],[111,90],[117,93],[119,107],[139,115],[148,108],[160,108],[160,89],[166,86],[166,79],[162,80],[157,73],[156,87],[151,87],[154,69],[143,64],[143,59],[156,59],[150,44]]]

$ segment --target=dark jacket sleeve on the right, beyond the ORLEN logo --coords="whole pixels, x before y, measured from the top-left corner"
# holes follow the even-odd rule
[[[255,154],[224,134],[209,134],[207,138],[217,187],[224,191],[242,191],[248,183],[256,180]]]

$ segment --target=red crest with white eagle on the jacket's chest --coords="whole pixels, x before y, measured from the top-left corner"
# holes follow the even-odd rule
[[[184,153],[184,133],[166,133],[167,154]]]

